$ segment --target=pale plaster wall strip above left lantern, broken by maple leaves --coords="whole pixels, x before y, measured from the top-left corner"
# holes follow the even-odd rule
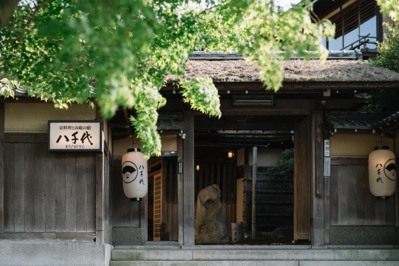
[[[140,143],[140,141],[136,139],[136,136],[134,136],[134,142],[138,142],[140,144],[140,147],[142,147],[142,143]],[[113,141],[113,155],[124,155],[126,153],[127,146],[131,143],[131,137]],[[161,135],[161,143],[161,151],[177,151],[177,135]]]

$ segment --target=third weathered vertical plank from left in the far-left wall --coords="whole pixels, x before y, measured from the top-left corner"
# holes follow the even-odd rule
[[[25,232],[35,231],[35,145],[25,144]]]

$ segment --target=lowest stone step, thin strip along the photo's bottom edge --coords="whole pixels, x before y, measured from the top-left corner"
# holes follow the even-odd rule
[[[395,260],[111,261],[110,266],[398,266]]]

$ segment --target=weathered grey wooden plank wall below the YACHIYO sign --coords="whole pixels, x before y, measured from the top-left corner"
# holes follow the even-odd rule
[[[93,153],[6,143],[4,232],[95,232]]]

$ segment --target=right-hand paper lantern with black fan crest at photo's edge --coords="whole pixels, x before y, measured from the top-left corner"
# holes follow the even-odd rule
[[[375,197],[387,199],[396,188],[395,154],[388,146],[378,146],[369,155],[369,185]]]

